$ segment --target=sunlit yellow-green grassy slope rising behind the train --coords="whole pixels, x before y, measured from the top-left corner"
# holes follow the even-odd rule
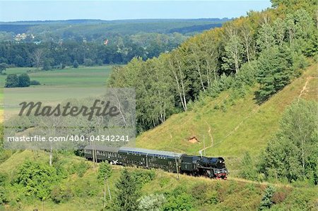
[[[194,104],[192,111],[175,114],[160,126],[137,138],[138,147],[170,150],[199,155],[206,146],[206,155],[230,159],[241,157],[244,151],[257,155],[267,140],[278,129],[278,122],[285,107],[302,97],[318,100],[317,65],[308,67],[300,78],[271,97],[264,104],[257,104],[254,91],[240,100],[230,100],[229,92],[216,99],[205,98]],[[230,131],[230,132],[229,132]],[[189,142],[196,137],[198,143]],[[203,151],[204,152],[204,151]]]

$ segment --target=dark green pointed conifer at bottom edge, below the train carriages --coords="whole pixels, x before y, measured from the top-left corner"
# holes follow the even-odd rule
[[[138,208],[139,193],[137,191],[136,181],[131,173],[124,169],[119,181],[116,183],[117,194],[114,203],[116,210],[134,211]]]

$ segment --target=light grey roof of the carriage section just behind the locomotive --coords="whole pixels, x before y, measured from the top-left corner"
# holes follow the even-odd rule
[[[134,147],[120,147],[118,152],[130,152],[130,153],[136,153],[141,155],[155,155],[159,157],[167,157],[167,158],[180,158],[182,153],[176,153],[176,152],[167,152],[167,151],[160,151],[160,150],[147,150],[147,149],[141,149],[141,148],[134,148]]]

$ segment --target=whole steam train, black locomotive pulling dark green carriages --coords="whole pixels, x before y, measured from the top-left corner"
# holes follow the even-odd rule
[[[186,155],[160,150],[146,150],[134,147],[107,147],[105,145],[88,145],[84,148],[86,159],[95,159],[124,166],[136,166],[146,169],[163,169],[164,171],[226,179],[228,170],[223,157],[204,157]]]

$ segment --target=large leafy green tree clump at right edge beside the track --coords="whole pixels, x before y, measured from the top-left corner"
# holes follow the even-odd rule
[[[261,157],[260,170],[272,179],[318,183],[317,102],[299,100],[286,109],[280,130]]]

